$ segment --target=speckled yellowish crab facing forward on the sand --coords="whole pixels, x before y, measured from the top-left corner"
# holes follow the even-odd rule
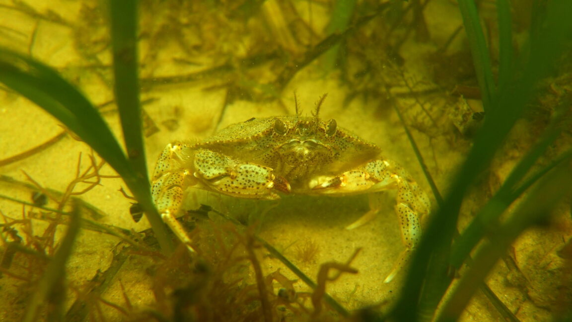
[[[370,210],[348,225],[355,229],[378,213],[379,193],[395,189],[404,250],[385,282],[391,281],[416,248],[430,202],[403,167],[335,120],[319,119],[325,95],[312,117],[249,119],[197,144],[174,142],[162,151],[152,177],[152,196],[162,219],[194,252],[176,219],[188,187],[237,198],[279,199],[285,194],[370,195]]]

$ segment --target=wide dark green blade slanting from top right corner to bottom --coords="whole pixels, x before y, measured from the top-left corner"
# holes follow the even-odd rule
[[[451,193],[447,195],[443,207],[432,216],[426,233],[422,237],[410,265],[402,295],[390,315],[400,321],[415,321],[419,317],[419,308],[425,304],[419,303],[420,294],[428,272],[437,271],[430,268],[430,258],[435,252],[446,249],[452,241],[456,230],[456,222],[460,204],[468,187],[487,169],[496,150],[501,146],[507,133],[516,120],[526,109],[527,101],[534,93],[537,81],[551,69],[555,57],[560,52],[566,35],[570,32],[570,19],[565,13],[572,10],[572,2],[551,2],[551,13],[546,15],[542,33],[545,37],[538,38],[525,62],[521,62],[520,78],[511,77],[514,84],[510,91],[499,93],[498,111],[487,114],[484,124],[475,136],[475,142],[466,161],[460,168],[458,175],[451,185]],[[495,106],[496,106],[495,105]],[[439,289],[447,289],[442,287]],[[432,296],[441,299],[444,293],[435,293]],[[426,312],[424,312],[426,313]]]

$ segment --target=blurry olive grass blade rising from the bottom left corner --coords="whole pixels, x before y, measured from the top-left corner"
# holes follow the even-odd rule
[[[80,232],[81,209],[81,201],[74,199],[74,206],[70,214],[70,222],[67,227],[66,235],[59,243],[58,250],[55,252],[54,257],[51,258],[50,263],[47,265],[38,283],[38,288],[35,290],[26,309],[26,315],[22,320],[23,322],[36,321],[39,309],[42,305],[45,305],[46,302],[56,304],[56,308],[53,308],[55,312],[48,312],[47,316],[51,317],[53,321],[63,320],[65,265],[70,254],[72,254],[77,234]],[[54,300],[60,303],[53,303]]]

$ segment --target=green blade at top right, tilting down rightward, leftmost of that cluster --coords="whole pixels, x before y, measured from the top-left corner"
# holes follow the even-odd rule
[[[474,0],[459,0],[459,10],[463,17],[467,40],[471,49],[472,61],[475,66],[476,79],[479,82],[483,100],[484,112],[490,113],[495,95],[495,83],[492,78],[491,57],[488,53],[487,42],[484,39],[483,29],[480,26],[479,13]]]

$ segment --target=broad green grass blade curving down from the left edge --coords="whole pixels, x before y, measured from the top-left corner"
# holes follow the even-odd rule
[[[145,209],[164,252],[172,252],[164,223],[154,210],[148,182],[133,170],[112,131],[93,104],[54,69],[9,49],[0,48],[0,82],[37,104],[75,132],[125,180]],[[154,212],[153,212],[154,210]]]

